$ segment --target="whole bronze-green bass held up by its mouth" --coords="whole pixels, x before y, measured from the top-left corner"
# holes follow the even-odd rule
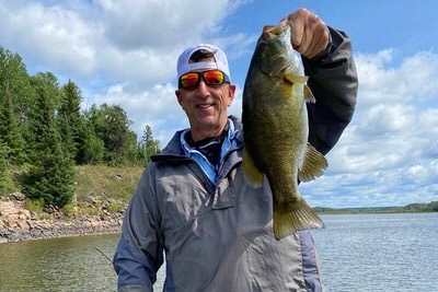
[[[253,54],[243,91],[242,167],[253,187],[266,175],[273,192],[277,240],[298,230],[322,227],[298,190],[298,182],[323,174],[325,157],[308,143],[306,103],[315,100],[307,85],[289,26],[265,26]]]

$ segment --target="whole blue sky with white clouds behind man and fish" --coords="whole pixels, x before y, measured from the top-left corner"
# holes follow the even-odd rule
[[[176,103],[176,58],[211,43],[242,86],[262,27],[298,8],[351,39],[359,77],[348,128],[328,168],[300,191],[311,206],[404,206],[438,200],[438,1],[435,0],[0,0],[0,46],[30,74],[73,81],[82,108],[120,105],[164,147],[188,127]]]

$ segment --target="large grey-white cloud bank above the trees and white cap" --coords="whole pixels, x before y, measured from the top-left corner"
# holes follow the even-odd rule
[[[18,51],[35,70],[53,71],[85,86],[99,77],[107,83],[129,80],[146,87],[172,80],[177,54],[188,44],[217,37],[223,17],[240,4],[229,0],[2,1],[0,35],[2,46]]]

